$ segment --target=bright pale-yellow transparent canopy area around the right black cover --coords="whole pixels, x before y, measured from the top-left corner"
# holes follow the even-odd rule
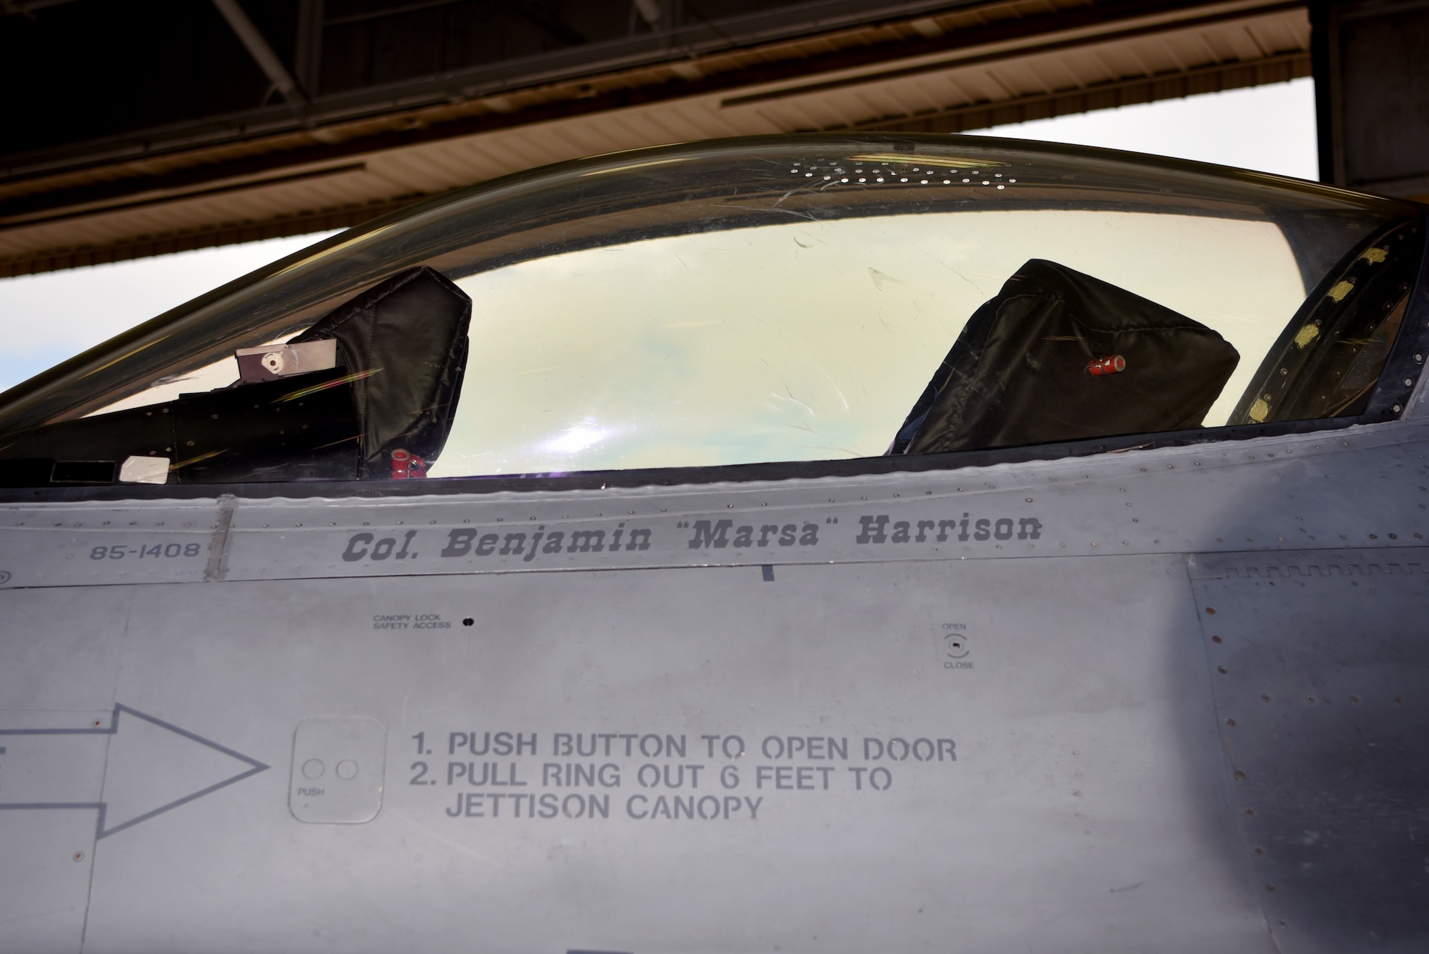
[[[460,281],[472,358],[432,476],[876,457],[1027,258],[1198,316],[1243,356],[1305,298],[1275,224],[1185,214],[930,211],[533,258]]]

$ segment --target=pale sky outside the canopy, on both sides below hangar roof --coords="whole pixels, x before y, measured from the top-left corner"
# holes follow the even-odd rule
[[[1316,179],[1309,79],[973,134],[1102,146]],[[0,391],[332,233],[0,280]]]

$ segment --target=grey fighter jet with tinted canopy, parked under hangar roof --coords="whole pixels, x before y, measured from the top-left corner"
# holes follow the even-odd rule
[[[0,948],[1426,950],[1423,219],[682,144],[20,384]]]

